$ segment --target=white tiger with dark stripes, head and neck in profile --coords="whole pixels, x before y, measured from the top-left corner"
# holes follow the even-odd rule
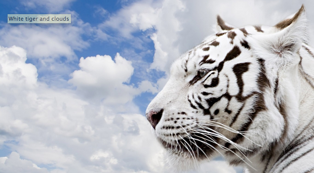
[[[246,172],[314,172],[314,53],[304,7],[218,32],[183,54],[146,116],[175,171],[222,154]]]

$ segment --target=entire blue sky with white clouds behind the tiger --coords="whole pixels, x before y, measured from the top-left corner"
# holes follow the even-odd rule
[[[309,0],[0,1],[0,172],[167,172],[144,112],[171,63],[214,33],[217,14],[274,25],[302,3],[314,28]],[[72,21],[8,24],[7,14]],[[208,170],[242,171],[221,158]]]

